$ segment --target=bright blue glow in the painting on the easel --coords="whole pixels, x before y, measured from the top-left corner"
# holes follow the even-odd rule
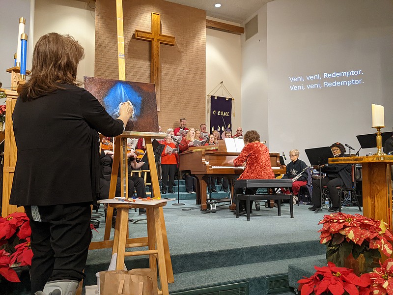
[[[134,114],[130,120],[137,120],[140,115],[142,97],[130,85],[118,81],[103,98],[105,109],[111,116],[118,116],[120,105],[126,101],[130,101],[134,107]]]

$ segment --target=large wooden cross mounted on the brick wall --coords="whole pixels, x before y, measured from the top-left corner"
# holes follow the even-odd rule
[[[156,85],[157,110],[160,110],[160,44],[175,45],[175,37],[161,34],[160,14],[151,13],[151,32],[135,30],[135,39],[151,42],[150,82]]]

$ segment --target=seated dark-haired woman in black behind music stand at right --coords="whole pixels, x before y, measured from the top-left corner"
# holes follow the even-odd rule
[[[345,148],[340,143],[334,143],[330,146],[333,151],[334,156],[337,157],[345,157]],[[318,166],[314,167],[315,169],[319,169]],[[311,204],[312,207],[309,207],[309,210],[315,211],[321,207],[321,190],[320,190],[320,181],[322,186],[327,186],[330,194],[330,199],[332,201],[332,207],[330,207],[330,212],[336,212],[339,206],[339,196],[337,191],[337,186],[345,186],[351,187],[352,179],[351,179],[351,165],[350,164],[329,164],[322,165],[321,172],[326,173],[327,176],[322,179],[315,179],[312,181],[312,197]]]

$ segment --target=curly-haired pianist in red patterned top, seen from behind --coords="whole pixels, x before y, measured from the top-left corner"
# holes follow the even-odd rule
[[[233,160],[235,167],[246,164],[244,172],[238,179],[273,179],[274,173],[270,163],[269,149],[260,143],[260,137],[255,130],[249,130],[244,135],[244,148],[240,155]],[[231,161],[228,163],[231,164]],[[243,194],[243,189],[239,188],[237,194]],[[245,194],[253,195],[256,188],[247,188]],[[240,201],[239,214],[246,213],[246,201]],[[251,202],[250,207],[253,207]]]

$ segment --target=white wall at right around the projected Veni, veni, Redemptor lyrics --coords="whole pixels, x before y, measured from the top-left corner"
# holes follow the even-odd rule
[[[266,139],[268,128],[271,151],[303,152],[337,141],[359,148],[356,135],[375,131],[371,103],[379,103],[383,131],[391,131],[392,13],[389,0],[276,0],[261,8],[258,34],[242,39],[243,130]],[[356,78],[365,82],[359,86],[289,89],[290,76],[358,68],[364,75]],[[334,80],[345,79],[321,82]],[[292,84],[302,83],[308,84]]]

